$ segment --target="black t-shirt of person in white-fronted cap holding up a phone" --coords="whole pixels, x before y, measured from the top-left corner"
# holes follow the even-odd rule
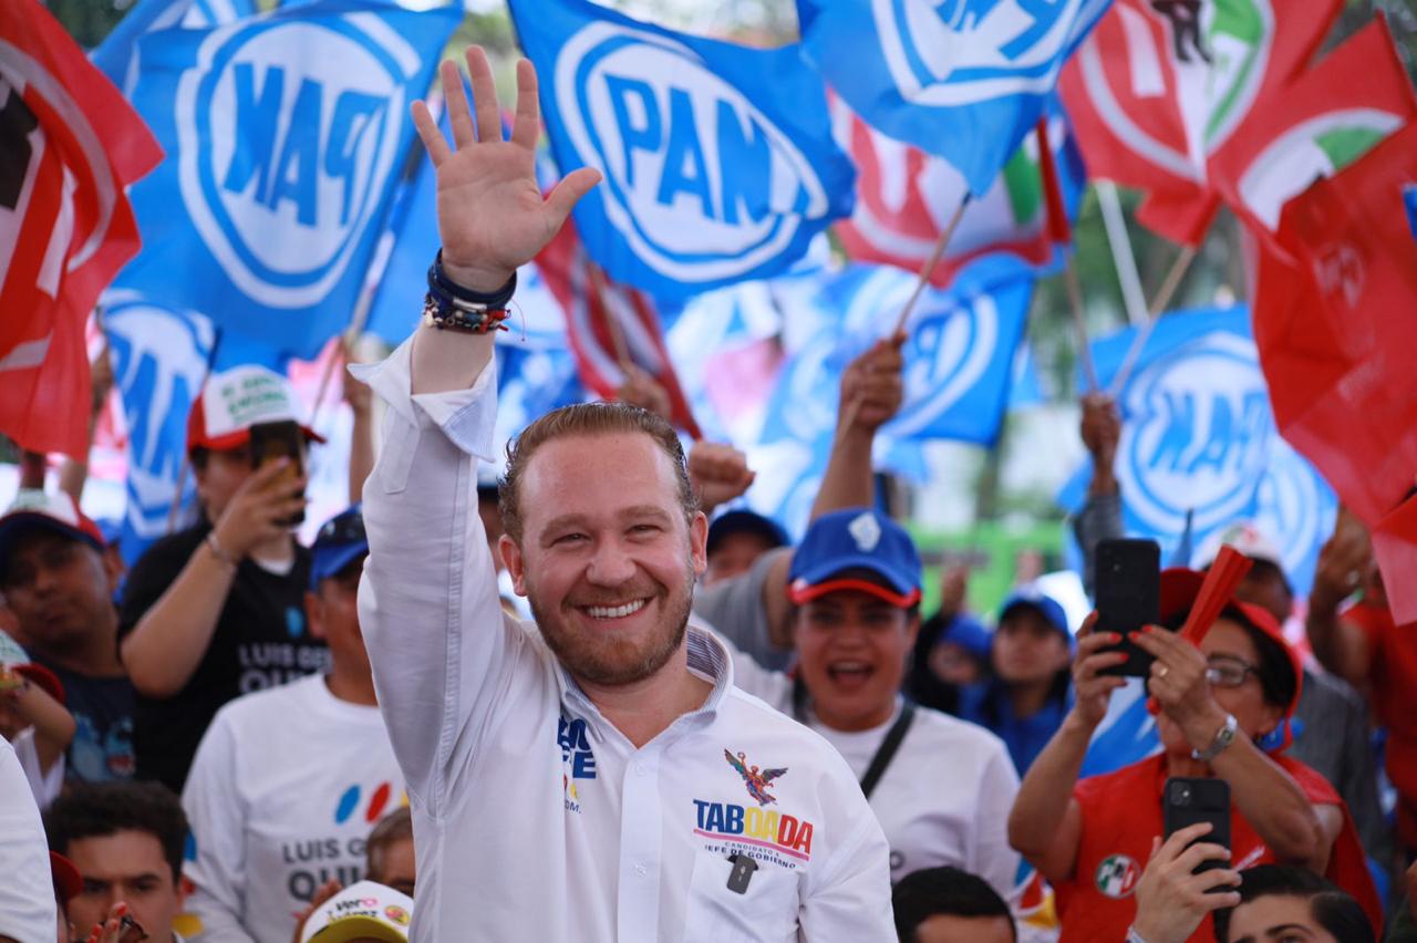
[[[119,637],[167,592],[210,530],[203,521],[164,537],[139,558],[123,586]],[[170,698],[137,695],[133,745],[139,779],[156,779],[181,793],[197,743],[221,705],[327,670],[329,650],[305,624],[309,582],[310,551],[299,545],[295,566],[283,575],[249,558],[241,561],[211,644],[187,685]]]

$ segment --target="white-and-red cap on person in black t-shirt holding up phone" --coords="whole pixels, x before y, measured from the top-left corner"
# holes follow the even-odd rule
[[[324,438],[299,421],[299,401],[285,377],[255,364],[213,374],[187,413],[187,452],[239,449],[251,440],[251,426],[296,422],[305,438]]]

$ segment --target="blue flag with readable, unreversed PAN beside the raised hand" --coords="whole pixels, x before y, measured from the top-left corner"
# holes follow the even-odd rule
[[[585,0],[512,0],[512,16],[557,166],[604,176],[574,214],[612,280],[674,300],[765,278],[850,212],[856,171],[799,47],[683,35]]]

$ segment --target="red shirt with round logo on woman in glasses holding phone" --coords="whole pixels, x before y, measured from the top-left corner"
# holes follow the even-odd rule
[[[1382,905],[1343,800],[1304,763],[1288,756],[1275,756],[1274,760],[1294,776],[1309,801],[1343,808],[1343,833],[1333,844],[1325,876],[1356,896],[1380,932]],[[1115,773],[1090,776],[1073,789],[1073,797],[1083,807],[1083,837],[1073,878],[1053,885],[1063,927],[1058,943],[1121,940],[1127,936],[1127,927],[1136,916],[1132,893],[1146,867],[1152,837],[1162,834],[1165,784],[1166,758],[1158,755]],[[1275,862],[1268,845],[1234,808],[1230,814],[1230,850],[1237,869]],[[1209,916],[1190,936],[1192,942],[1214,939]]]

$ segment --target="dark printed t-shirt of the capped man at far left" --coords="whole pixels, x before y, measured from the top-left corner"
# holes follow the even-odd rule
[[[133,777],[133,685],[126,677],[96,678],[34,656],[64,685],[75,731],[64,753],[64,779],[106,783]]]

